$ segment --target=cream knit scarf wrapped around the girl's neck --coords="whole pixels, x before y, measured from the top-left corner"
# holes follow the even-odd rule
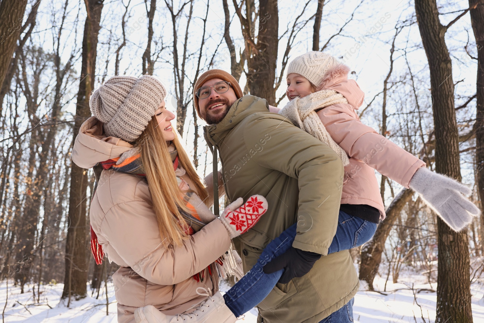
[[[330,146],[339,155],[343,165],[347,166],[349,165],[348,155],[343,148],[334,142],[316,113],[316,111],[322,108],[338,103],[348,104],[348,100],[336,91],[321,90],[303,98],[296,97],[292,99],[279,113],[289,118],[295,125],[311,136]]]

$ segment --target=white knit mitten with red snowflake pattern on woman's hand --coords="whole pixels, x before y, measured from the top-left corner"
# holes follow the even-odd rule
[[[263,196],[253,195],[241,206],[242,201],[242,198],[233,201],[220,215],[231,239],[247,232],[267,211],[267,200]]]

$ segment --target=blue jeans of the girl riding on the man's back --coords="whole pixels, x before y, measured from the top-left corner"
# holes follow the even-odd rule
[[[262,251],[257,263],[242,277],[231,289],[224,294],[225,304],[236,317],[249,311],[259,304],[272,291],[275,284],[282,276],[284,269],[272,274],[264,274],[262,267],[273,258],[280,256],[292,246],[296,237],[297,223],[290,226],[280,236],[272,240]],[[339,211],[338,227],[328,253],[361,246],[367,242],[375,231],[377,224],[363,220],[357,216],[351,216]],[[348,303],[349,304],[349,303]],[[347,304],[347,305],[348,305]],[[343,308],[348,308],[345,305]],[[352,304],[349,308],[352,316]],[[334,312],[338,313],[338,311]],[[331,314],[328,318],[330,318]],[[336,314],[335,314],[336,315]],[[326,319],[328,319],[326,318]],[[331,321],[323,321],[331,322]],[[334,321],[338,322],[338,321]],[[341,321],[347,322],[347,321]]]

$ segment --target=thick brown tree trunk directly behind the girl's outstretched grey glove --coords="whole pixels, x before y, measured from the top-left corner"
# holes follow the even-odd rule
[[[461,180],[454,107],[452,61],[445,43],[447,26],[439,21],[436,0],[416,0],[415,13],[427,55],[436,138],[436,172]],[[452,231],[440,217],[436,323],[472,322],[467,230]]]

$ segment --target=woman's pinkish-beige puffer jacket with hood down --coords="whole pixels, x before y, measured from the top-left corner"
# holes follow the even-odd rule
[[[89,169],[132,148],[119,138],[102,136],[102,123],[91,117],[79,130],[72,160]],[[109,170],[101,173],[89,217],[110,260],[121,266],[113,275],[118,322],[135,322],[134,310],[146,305],[169,315],[183,312],[206,297],[197,294],[197,287],[218,291],[216,274],[203,282],[192,276],[229,248],[230,238],[220,220],[207,224],[182,246],[165,247],[147,182]]]

